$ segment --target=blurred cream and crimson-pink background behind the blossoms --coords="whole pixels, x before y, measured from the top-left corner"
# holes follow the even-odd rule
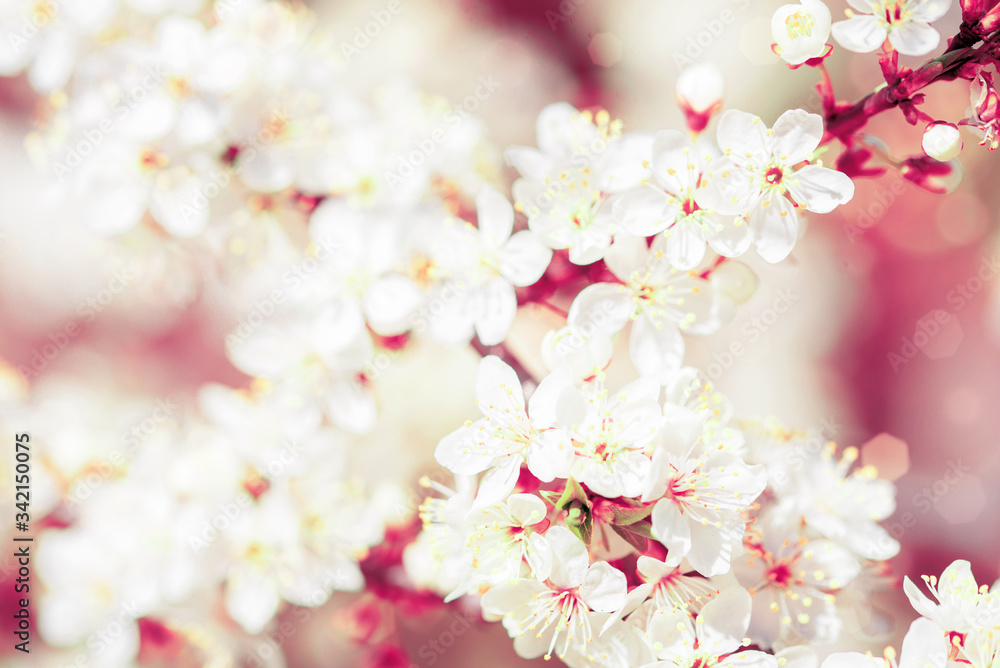
[[[789,70],[770,52],[770,17],[780,1],[397,2],[398,13],[352,58],[345,73],[351,85],[366,91],[406,75],[457,103],[484,78],[494,81],[496,92],[476,113],[497,147],[534,145],[538,112],[559,100],[606,108],[626,130],[682,127],[674,83],[685,66],[700,62],[726,75],[727,108],[768,123],[789,108],[820,110],[815,72]],[[835,20],[843,4],[830,3]],[[307,5],[340,49],[386,2]],[[938,27],[950,35],[959,22],[953,7]],[[874,57],[838,49],[827,63],[840,100],[881,82]],[[963,82],[934,86],[925,111],[963,118],[967,90]],[[47,196],[47,177],[25,150],[36,97],[23,76],[0,80],[0,357],[30,364],[53,333],[76,323],[79,330],[44,373],[82,379],[95,396],[134,391],[183,402],[205,382],[245,383],[226,359],[223,338],[232,322],[219,315],[225,297],[210,284],[167,276],[167,300],[141,283],[126,285],[88,317],[87,300],[116,285],[107,258],[121,250],[93,238],[71,206]],[[875,119],[867,131],[897,156],[919,153],[920,129],[898,113]],[[963,558],[980,583],[992,583],[1000,570],[1000,486],[988,482],[1000,479],[1000,190],[996,156],[971,134],[965,144],[965,178],[955,192],[930,194],[895,174],[859,181],[848,206],[809,221],[789,261],[772,267],[749,260],[761,290],[723,331],[691,341],[687,361],[707,370],[740,416],[823,427],[841,445],[863,446],[864,463],[899,489],[888,523],[903,545],[895,574],[939,574]],[[505,179],[509,187],[512,174]],[[519,314],[510,345],[529,368],[542,369],[539,342],[557,324],[551,313]],[[733,356],[736,342],[744,352]],[[408,487],[437,470],[437,440],[473,415],[476,361],[471,348],[426,344],[393,364],[380,392],[400,399],[384,402],[379,428],[353,455],[357,470]],[[613,380],[628,374],[621,370]],[[86,415],[60,410],[50,419],[77,420],[85,429]],[[401,440],[405,456],[394,449]],[[860,644],[880,650],[898,643],[913,613],[898,590],[876,606],[896,626],[876,637],[857,631]],[[428,605],[394,617],[408,658],[351,644],[352,633],[387,615],[377,603],[336,594],[294,639],[281,642],[289,665],[527,663],[499,625],[454,607]],[[7,644],[0,652],[9,652]],[[160,665],[155,653],[146,659]],[[19,665],[9,654],[5,660]]]

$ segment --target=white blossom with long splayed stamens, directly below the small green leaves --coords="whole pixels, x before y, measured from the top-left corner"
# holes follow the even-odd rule
[[[522,579],[483,595],[483,612],[502,616],[518,656],[560,658],[585,653],[597,633],[589,613],[612,612],[625,600],[625,574],[605,561],[590,563],[587,547],[562,526],[545,533],[552,572],[545,582]]]

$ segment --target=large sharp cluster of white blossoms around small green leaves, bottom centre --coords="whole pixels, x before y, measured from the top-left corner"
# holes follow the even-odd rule
[[[730,424],[690,367],[665,389],[605,380],[562,366],[526,406],[483,359],[483,417],[436,453],[463,492],[425,502],[413,577],[574,666],[778,665],[764,651],[836,642],[840,592],[884,586],[899,550],[878,524],[894,486],[819,433]]]

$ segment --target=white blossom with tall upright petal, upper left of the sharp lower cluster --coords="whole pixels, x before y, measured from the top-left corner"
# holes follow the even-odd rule
[[[483,418],[466,422],[438,443],[434,457],[458,475],[483,471],[475,508],[486,508],[514,489],[521,464],[540,480],[568,474],[573,457],[569,435],[553,429],[556,404],[569,386],[569,368],[547,377],[531,395],[530,412],[517,374],[500,358],[486,356],[476,375],[476,403]]]

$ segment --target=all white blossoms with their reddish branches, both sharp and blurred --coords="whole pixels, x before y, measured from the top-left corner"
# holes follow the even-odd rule
[[[856,179],[896,168],[944,191],[958,126],[996,147],[995,3],[963,3],[977,39],[949,45],[950,76],[971,82],[956,123],[919,109],[939,70],[898,66],[938,46],[948,2],[851,0],[834,22],[803,0],[774,15],[776,53],[825,75],[830,34],[881,47],[888,85],[865,104],[838,102],[825,77],[822,114],[768,123],[724,110],[721,75],[700,65],[676,87],[684,130],[626,132],[557,102],[536,146],[505,152],[409,81],[359,91],[299,6],[43,4],[0,10],[21,36],[0,74],[26,72],[43,96],[29,152],[110,253],[138,257],[151,301],[225,295],[225,354],[245,375],[174,403],[110,372],[96,392],[0,367],[4,424],[43,444],[50,646],[128,666],[156,625],[205,664],[240,665],[283,609],[388,588],[478,606],[526,658],[805,668],[891,584],[900,545],[879,523],[894,485],[819,431],[738,420],[687,340],[753,296],[748,258],[785,261],[803,217],[850,202]],[[896,161],[858,133],[893,107],[925,124],[925,155]],[[505,345],[529,306],[565,319],[539,378]],[[608,373],[619,343],[623,386]],[[418,509],[355,456],[385,436],[380,380],[397,356],[470,344],[479,415],[440,438],[454,485],[425,479],[436,494]],[[898,664],[841,652],[824,668],[995,665],[1000,594],[966,562],[926,579],[936,602],[905,582],[922,618]]]

